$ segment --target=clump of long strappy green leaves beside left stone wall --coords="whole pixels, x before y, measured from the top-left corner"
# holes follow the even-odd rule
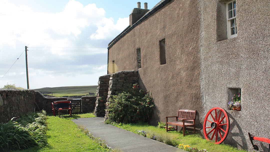
[[[0,152],[42,146],[48,143],[46,112],[28,113],[16,121],[0,123]]]

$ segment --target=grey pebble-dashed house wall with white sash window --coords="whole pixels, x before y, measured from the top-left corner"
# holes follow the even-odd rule
[[[220,38],[224,2],[200,2],[202,114],[214,106],[227,110],[228,89],[241,88],[241,111],[227,110],[231,129],[224,143],[253,151],[248,132],[270,137],[270,1],[237,0],[238,35],[231,39]],[[268,144],[254,142],[267,151]]]

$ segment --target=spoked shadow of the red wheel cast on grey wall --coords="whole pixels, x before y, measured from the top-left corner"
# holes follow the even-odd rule
[[[230,130],[227,138],[224,140],[224,143],[236,147],[241,147],[242,149],[248,149],[247,140],[244,137],[244,134],[247,133],[242,131],[241,127],[230,113],[228,113],[228,116],[230,118]],[[232,130],[235,131],[231,132]],[[235,140],[236,138],[241,138],[241,140]],[[242,143],[239,143],[238,141],[242,141]]]

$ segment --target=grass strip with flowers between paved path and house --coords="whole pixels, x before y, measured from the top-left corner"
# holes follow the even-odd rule
[[[201,134],[189,134],[183,137],[182,131],[168,131],[164,128],[158,128],[149,124],[114,124],[114,126],[129,130],[134,133],[138,133],[137,130],[146,131],[146,136],[152,138],[160,138],[164,143],[170,145],[189,145],[192,148],[198,148],[198,150],[206,149],[208,152],[247,152],[245,150],[238,150],[235,147],[226,144],[214,144],[207,141]]]

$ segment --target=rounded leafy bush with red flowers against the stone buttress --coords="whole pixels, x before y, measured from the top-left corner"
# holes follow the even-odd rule
[[[109,121],[117,123],[145,122],[152,116],[154,101],[149,92],[139,89],[136,83],[122,93],[114,95],[108,105]]]

